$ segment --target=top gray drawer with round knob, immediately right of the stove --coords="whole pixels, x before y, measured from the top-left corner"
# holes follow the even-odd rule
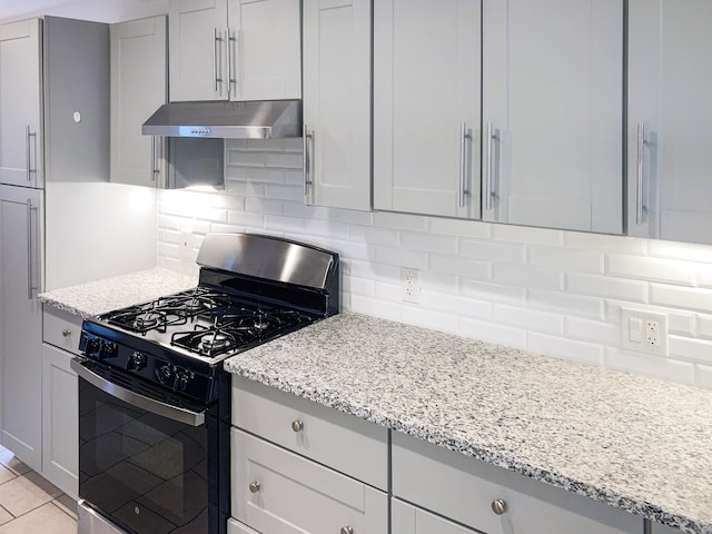
[[[388,431],[305,398],[233,377],[233,424],[380,490]]]

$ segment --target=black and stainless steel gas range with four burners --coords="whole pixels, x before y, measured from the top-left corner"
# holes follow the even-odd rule
[[[338,313],[338,255],[210,234],[195,289],[83,322],[79,534],[221,534],[230,379],[222,362]]]

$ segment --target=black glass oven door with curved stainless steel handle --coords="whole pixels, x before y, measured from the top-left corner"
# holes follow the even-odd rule
[[[79,375],[78,532],[217,532],[217,406],[175,406],[100,376],[101,364],[71,365]]]

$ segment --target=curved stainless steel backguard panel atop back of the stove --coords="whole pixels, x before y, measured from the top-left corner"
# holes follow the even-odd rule
[[[269,236],[208,234],[196,261],[204,267],[324,289],[334,257]]]

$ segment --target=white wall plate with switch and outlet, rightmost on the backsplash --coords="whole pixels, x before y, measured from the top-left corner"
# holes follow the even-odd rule
[[[623,348],[668,356],[668,316],[657,312],[621,308]]]

